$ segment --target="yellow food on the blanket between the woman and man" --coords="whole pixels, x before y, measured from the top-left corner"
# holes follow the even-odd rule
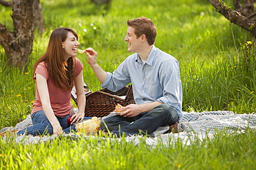
[[[93,116],[89,120],[84,120],[75,124],[75,129],[84,134],[94,133],[100,130],[100,118]]]

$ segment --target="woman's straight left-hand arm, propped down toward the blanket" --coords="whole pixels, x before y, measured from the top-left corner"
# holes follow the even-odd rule
[[[53,126],[53,134],[62,134],[62,127],[60,126],[59,120],[57,120],[55,114],[53,113],[53,109],[51,107],[49,92],[48,92],[48,85],[46,78],[41,76],[40,74],[36,74],[37,80],[37,89],[38,93],[42,102],[42,107],[46,117],[48,118],[49,122]]]

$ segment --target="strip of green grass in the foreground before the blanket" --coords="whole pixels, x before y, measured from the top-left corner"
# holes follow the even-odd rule
[[[213,140],[181,141],[165,147],[117,140],[55,138],[34,145],[0,140],[3,169],[255,169],[256,136],[221,133]]]

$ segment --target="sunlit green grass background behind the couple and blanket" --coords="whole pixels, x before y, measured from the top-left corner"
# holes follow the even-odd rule
[[[250,35],[229,23],[208,1],[125,1],[96,6],[89,0],[42,0],[46,31],[35,32],[28,72],[6,66],[0,47],[0,127],[15,125],[30,113],[35,97],[33,63],[46,50],[55,28],[73,28],[80,49],[93,47],[98,63],[112,72],[131,53],[124,41],[127,20],[148,17],[156,25],[156,47],[172,54],[181,65],[183,111],[231,110],[238,114],[255,111],[255,56]],[[227,1],[232,6],[232,1]],[[11,8],[0,7],[1,23],[12,30]],[[248,50],[245,50],[248,49]],[[94,92],[100,82],[86,63],[84,81]]]

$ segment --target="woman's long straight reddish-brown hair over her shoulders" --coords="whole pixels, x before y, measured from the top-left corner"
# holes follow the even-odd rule
[[[62,43],[66,41],[68,32],[72,32],[78,39],[76,32],[71,28],[57,28],[52,32],[47,50],[35,63],[33,74],[35,75],[37,65],[44,61],[53,84],[63,92],[71,90],[75,80],[75,56],[65,61],[62,48]]]

